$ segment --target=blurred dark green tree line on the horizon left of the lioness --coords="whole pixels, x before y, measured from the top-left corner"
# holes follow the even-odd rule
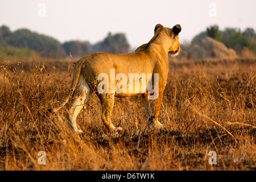
[[[43,57],[82,57],[96,51],[127,53],[130,45],[125,34],[108,34],[101,42],[91,45],[89,42],[69,41],[61,44],[58,40],[46,35],[22,28],[11,32],[9,27],[0,27],[0,47],[15,47],[20,50],[30,49]]]

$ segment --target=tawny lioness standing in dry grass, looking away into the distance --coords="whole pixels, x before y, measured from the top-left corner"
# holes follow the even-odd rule
[[[110,119],[114,106],[114,97],[129,97],[135,94],[142,94],[150,128],[163,128],[163,125],[158,121],[158,114],[168,75],[168,53],[172,55],[179,53],[180,44],[178,35],[180,31],[181,27],[179,24],[176,24],[172,28],[166,28],[163,27],[162,24],[156,24],[154,36],[150,42],[138,47],[133,53],[123,55],[96,52],[84,56],[77,61],[69,96],[74,94],[71,107],[67,114],[67,120],[72,130],[79,133],[81,132],[81,130],[77,128],[76,117],[93,91],[95,91],[100,98],[102,106],[101,118],[104,125],[110,131],[121,130],[119,127],[116,128]],[[99,80],[103,80],[102,78],[99,79],[101,73],[108,76],[109,80],[105,77],[105,81],[107,81],[106,83],[108,85],[105,84],[103,86],[102,83],[100,83]],[[138,75],[142,75],[143,73],[143,81],[146,83],[147,87],[144,86],[143,89],[142,84],[140,84],[139,89],[132,88],[132,90],[129,90],[127,88],[127,90],[123,90],[125,92],[117,92],[118,78],[116,78],[115,75],[121,73],[127,77],[129,77],[130,73],[137,73]],[[150,74],[148,75],[148,73]],[[145,77],[146,75],[147,77]],[[156,80],[155,76],[158,76],[158,80]],[[112,78],[114,78],[114,82]],[[119,78],[119,80],[121,79]],[[139,80],[122,80],[122,83],[124,83],[123,81],[126,82],[127,85],[130,85],[130,82],[142,82],[142,77],[139,77]],[[154,93],[149,92],[149,84],[154,88]],[[126,89],[125,84],[119,84],[119,89],[123,88]],[[101,89],[101,91],[104,90],[104,92],[99,92],[99,89]],[[157,97],[150,100],[149,97],[154,95],[155,92],[157,92]],[[63,107],[68,102],[69,96],[65,98],[59,106],[53,109],[53,111],[57,111]]]

